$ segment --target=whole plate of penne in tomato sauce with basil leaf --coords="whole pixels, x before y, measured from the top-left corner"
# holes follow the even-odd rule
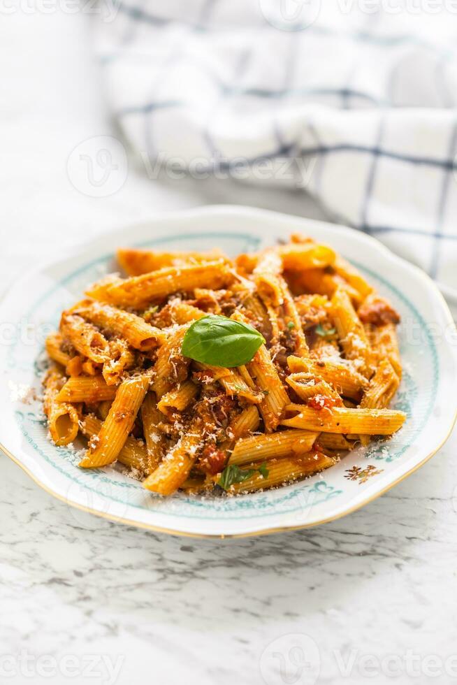
[[[2,449],[113,521],[315,526],[419,468],[456,419],[440,292],[344,226],[162,215],[37,268],[0,309]]]

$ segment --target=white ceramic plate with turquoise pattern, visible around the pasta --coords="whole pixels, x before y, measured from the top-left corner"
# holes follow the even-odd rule
[[[303,482],[235,498],[154,496],[115,468],[79,469],[74,451],[48,441],[40,403],[22,398],[31,386],[40,391],[45,335],[55,329],[61,310],[74,303],[89,282],[115,270],[116,247],[208,250],[217,246],[235,255],[276,243],[293,231],[335,247],[391,299],[402,316],[399,334],[405,374],[394,407],[407,412],[408,419],[391,440],[365,452],[355,450],[337,466]],[[157,531],[254,535],[330,521],[412,473],[435,454],[454,425],[456,330],[444,299],[418,268],[377,240],[342,226],[241,207],[162,215],[115,231],[83,252],[27,274],[1,303],[0,321],[6,331],[3,342],[11,338],[0,349],[0,443],[6,454],[69,504]]]

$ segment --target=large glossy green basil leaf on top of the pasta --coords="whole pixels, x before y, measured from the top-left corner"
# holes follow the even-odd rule
[[[182,354],[210,366],[242,366],[265,343],[261,334],[227,317],[208,315],[195,321],[182,341]]]

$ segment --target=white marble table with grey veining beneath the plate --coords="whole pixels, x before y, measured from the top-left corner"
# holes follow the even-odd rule
[[[301,193],[133,170],[112,196],[80,194],[68,155],[112,133],[88,17],[2,17],[0,57],[0,290],[37,259],[157,210],[235,202],[320,216]],[[345,519],[247,540],[110,524],[54,500],[0,454],[0,682],[452,682],[456,448],[454,435]]]

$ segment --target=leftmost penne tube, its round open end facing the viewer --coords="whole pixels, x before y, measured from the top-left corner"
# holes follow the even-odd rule
[[[73,405],[57,400],[63,383],[64,375],[57,368],[50,369],[45,377],[43,409],[48,417],[52,441],[57,447],[68,445],[78,435],[78,412]]]

